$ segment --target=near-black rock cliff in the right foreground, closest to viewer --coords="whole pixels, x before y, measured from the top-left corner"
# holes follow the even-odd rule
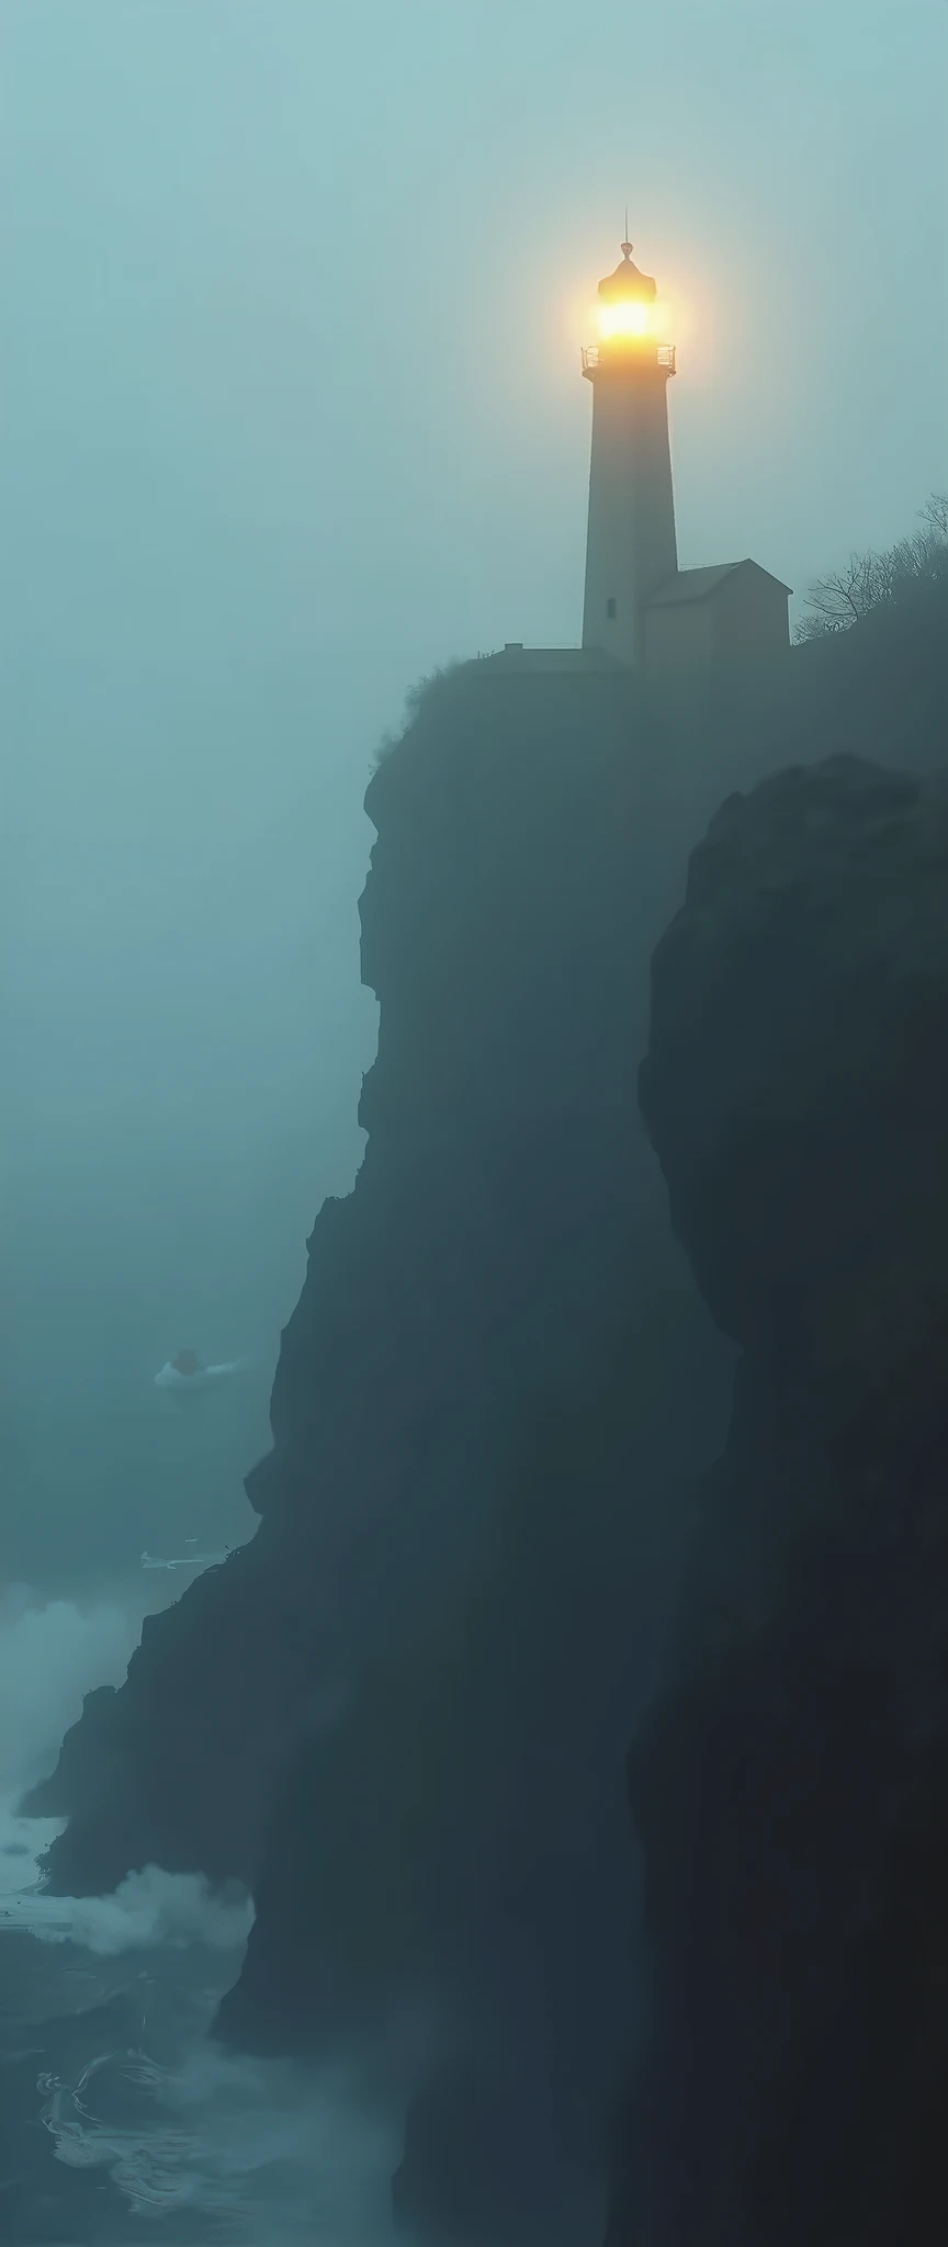
[[[744,1359],[629,1764],[651,2045],[613,2247],[948,2236],[948,780],[723,807],[642,1108]]]

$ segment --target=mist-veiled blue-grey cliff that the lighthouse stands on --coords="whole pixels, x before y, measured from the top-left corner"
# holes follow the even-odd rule
[[[840,750],[932,766],[944,674],[935,600],[764,670],[476,663],[368,786],[368,1148],[308,1243],[261,1526],[31,1807],[70,1818],[56,1892],[249,1885],[220,2034],[373,2040],[416,2234],[604,2227],[649,2036],[622,1764],[735,1359],[638,1115],[651,948],[723,798]]]

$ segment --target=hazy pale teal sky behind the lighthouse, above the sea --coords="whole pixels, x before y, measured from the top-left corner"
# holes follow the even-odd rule
[[[263,1240],[290,1308],[357,1159],[371,753],[434,663],[577,638],[625,202],[685,564],[802,586],[946,481],[946,0],[0,0],[31,1348],[148,1292],[238,1348]]]

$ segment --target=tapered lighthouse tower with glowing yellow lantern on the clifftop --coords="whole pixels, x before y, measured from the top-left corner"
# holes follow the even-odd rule
[[[642,661],[647,602],[678,571],[667,436],[674,346],[658,337],[656,297],[622,243],[622,263],[600,281],[600,342],[582,353],[593,384],[582,645],[620,663]]]

